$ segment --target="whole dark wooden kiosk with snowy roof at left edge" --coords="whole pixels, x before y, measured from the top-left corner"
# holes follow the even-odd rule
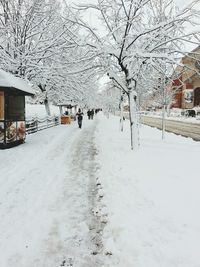
[[[16,146],[25,140],[25,95],[34,95],[31,86],[0,70],[0,149]]]

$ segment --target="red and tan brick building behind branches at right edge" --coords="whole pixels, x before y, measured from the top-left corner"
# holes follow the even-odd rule
[[[200,106],[200,46],[181,59],[176,68],[177,79],[172,82],[175,91],[173,107],[191,109]]]

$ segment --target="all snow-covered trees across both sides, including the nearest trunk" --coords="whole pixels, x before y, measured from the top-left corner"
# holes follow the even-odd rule
[[[166,98],[166,81],[187,54],[184,43],[199,44],[199,0],[183,9],[174,1],[97,0],[72,8],[67,0],[0,0],[0,67],[40,88],[39,101],[70,99],[88,107],[95,107],[95,87],[106,73],[121,104],[128,99],[133,149],[144,96]],[[84,21],[90,9],[103,34]]]

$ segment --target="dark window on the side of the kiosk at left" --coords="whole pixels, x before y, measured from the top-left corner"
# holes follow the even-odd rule
[[[25,120],[24,96],[8,96],[7,119]]]

